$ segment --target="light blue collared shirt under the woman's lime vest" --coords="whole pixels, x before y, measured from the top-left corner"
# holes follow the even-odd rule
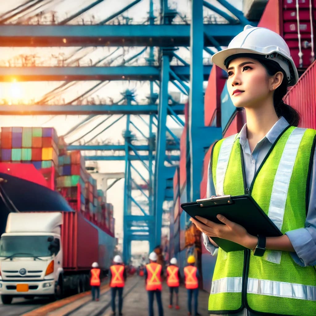
[[[289,125],[289,123],[281,117],[276,124],[272,126],[267,135],[261,139],[251,153],[248,139],[247,139],[247,125],[245,124],[241,129],[238,137],[240,138],[240,145],[242,148],[246,186],[249,188],[252,179],[264,160],[264,157],[270,150],[272,144],[276,141],[277,137]],[[305,221],[305,228],[298,228],[285,233],[292,243],[295,252],[291,252],[294,261],[301,265],[316,265],[316,151],[313,156],[313,165],[311,169],[310,192],[308,213]],[[216,195],[212,168],[209,164],[208,181],[207,181],[207,197]],[[211,253],[214,254],[216,247],[213,246],[208,237],[203,234],[204,246]],[[216,251],[217,252],[217,251]]]

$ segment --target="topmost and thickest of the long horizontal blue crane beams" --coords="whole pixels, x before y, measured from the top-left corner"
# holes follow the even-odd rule
[[[204,24],[221,46],[241,24]],[[1,25],[0,46],[190,46],[190,25]],[[212,46],[204,37],[204,46]]]

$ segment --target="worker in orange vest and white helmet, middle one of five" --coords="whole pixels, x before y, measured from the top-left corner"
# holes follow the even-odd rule
[[[154,316],[154,295],[156,294],[158,313],[163,316],[163,308],[161,302],[161,276],[163,274],[161,264],[157,263],[158,256],[155,252],[149,254],[149,264],[146,264],[144,270],[146,290],[148,293],[148,309],[149,316]]]

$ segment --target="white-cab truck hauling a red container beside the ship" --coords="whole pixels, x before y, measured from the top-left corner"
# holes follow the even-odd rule
[[[0,240],[3,304],[87,290],[92,262],[106,272],[114,240],[77,212],[10,213]]]

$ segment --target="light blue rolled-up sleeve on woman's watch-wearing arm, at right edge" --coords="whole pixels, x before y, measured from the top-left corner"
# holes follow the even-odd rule
[[[295,250],[291,252],[293,260],[301,265],[316,265],[316,151],[311,169],[310,194],[305,228],[285,233]]]

